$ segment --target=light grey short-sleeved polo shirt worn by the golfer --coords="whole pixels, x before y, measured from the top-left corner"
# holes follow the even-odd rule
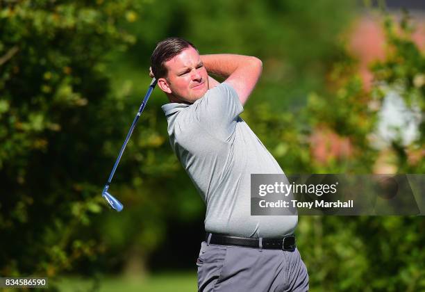
[[[206,232],[278,238],[298,216],[251,216],[251,174],[283,174],[239,115],[238,94],[224,82],[193,104],[165,104],[169,140],[202,200]]]

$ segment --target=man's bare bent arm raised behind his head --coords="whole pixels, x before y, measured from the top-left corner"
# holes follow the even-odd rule
[[[201,60],[208,72],[226,78],[225,82],[235,88],[242,105],[247,102],[263,70],[261,60],[251,56],[214,54],[202,55]]]

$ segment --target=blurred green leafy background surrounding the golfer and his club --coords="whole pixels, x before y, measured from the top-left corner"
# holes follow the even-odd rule
[[[263,60],[242,118],[285,173],[424,173],[424,16],[419,0],[0,1],[0,276],[196,291],[205,206],[160,90],[110,188],[124,211],[101,198],[169,36]],[[300,216],[296,235],[310,291],[425,291],[422,217]]]

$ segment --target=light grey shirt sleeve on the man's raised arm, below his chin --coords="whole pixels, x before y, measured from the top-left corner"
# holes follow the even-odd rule
[[[203,129],[216,138],[227,140],[233,135],[244,108],[236,90],[224,82],[208,90],[196,103],[194,111]]]

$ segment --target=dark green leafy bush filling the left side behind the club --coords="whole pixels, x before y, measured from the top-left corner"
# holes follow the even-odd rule
[[[134,42],[119,28],[134,6],[1,1],[1,275],[53,276],[105,248],[76,234],[102,209],[117,131],[104,56]]]

